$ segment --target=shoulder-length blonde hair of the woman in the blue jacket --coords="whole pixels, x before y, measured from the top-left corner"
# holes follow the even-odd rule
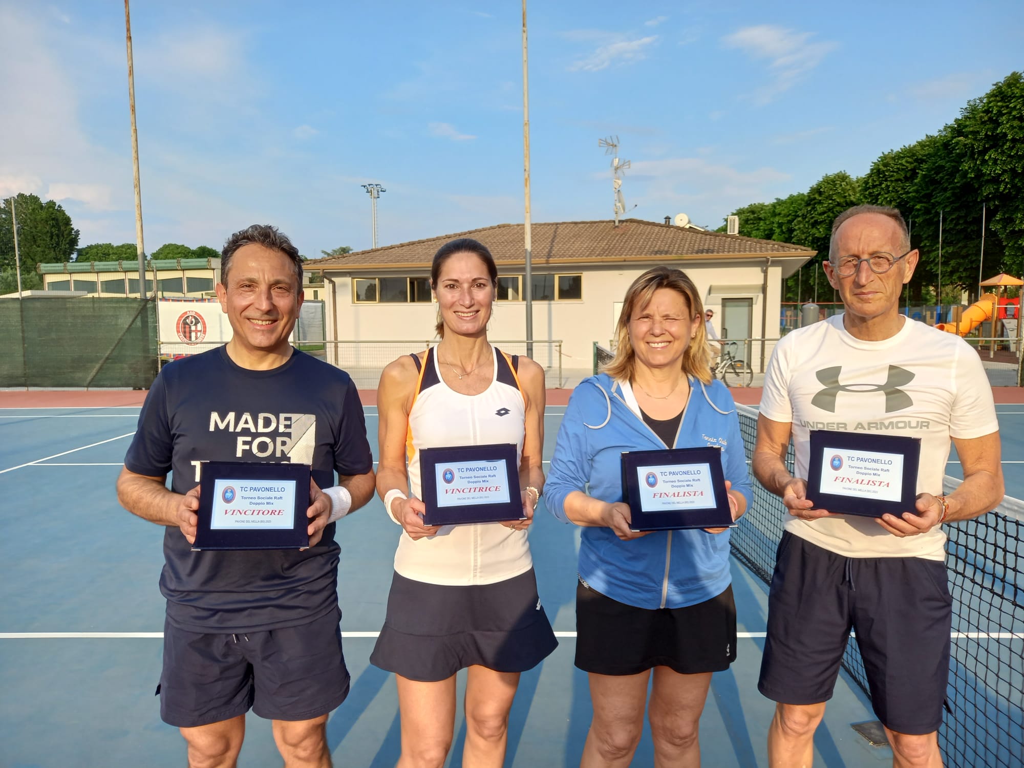
[[[659,288],[670,288],[679,293],[689,308],[689,318],[703,318],[703,303],[686,272],[668,266],[648,269],[635,281],[626,292],[623,311],[615,326],[615,356],[602,371],[618,381],[629,381],[636,369],[636,353],[630,344],[630,318],[637,309],[642,309],[654,298]],[[708,332],[703,323],[697,324],[696,334],[690,340],[682,359],[683,373],[696,377],[705,384],[711,384],[711,350],[708,348]]]

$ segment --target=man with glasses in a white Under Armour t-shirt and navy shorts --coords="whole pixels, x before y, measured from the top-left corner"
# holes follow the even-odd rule
[[[768,604],[758,687],[777,702],[769,764],[809,766],[813,736],[856,631],[893,765],[939,767],[952,599],[943,521],[1002,499],[998,422],[977,353],[899,313],[918,264],[899,211],[858,206],[833,224],[825,274],[845,313],[786,335],[765,376],[753,470],[790,510]],[[921,439],[916,509],[829,513],[806,478],[811,430]],[[784,458],[791,435],[795,476]],[[950,440],[964,481],[942,496]]]

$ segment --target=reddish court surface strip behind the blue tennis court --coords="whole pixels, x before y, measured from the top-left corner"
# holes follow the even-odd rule
[[[757,406],[761,402],[761,387],[737,387],[730,389],[736,402]],[[112,408],[141,406],[145,400],[145,390],[91,389],[91,390],[24,390],[0,391],[0,408]],[[564,406],[569,401],[571,389],[549,389],[548,404]],[[1024,404],[1024,387],[992,387],[996,404]],[[376,389],[360,389],[359,399],[364,406],[377,404]]]

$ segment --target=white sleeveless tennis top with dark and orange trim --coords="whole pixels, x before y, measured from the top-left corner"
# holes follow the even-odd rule
[[[451,389],[437,368],[435,350],[427,351],[406,436],[409,484],[417,499],[421,449],[511,442],[517,466],[522,458],[526,404],[515,371],[517,359],[490,349],[490,386],[472,395]],[[503,582],[532,564],[526,531],[500,522],[442,525],[435,536],[416,541],[402,531],[394,555],[395,571],[407,579],[449,586]]]

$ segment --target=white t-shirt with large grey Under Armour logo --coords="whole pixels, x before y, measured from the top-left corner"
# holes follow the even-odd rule
[[[761,413],[793,424],[795,474],[805,479],[811,429],[920,437],[919,494],[942,493],[951,438],[999,429],[981,358],[962,338],[905,319],[892,338],[861,341],[847,333],[842,314],[778,342]],[[845,557],[945,557],[946,535],[938,525],[900,538],[873,518],[843,515],[791,517],[785,529]]]

